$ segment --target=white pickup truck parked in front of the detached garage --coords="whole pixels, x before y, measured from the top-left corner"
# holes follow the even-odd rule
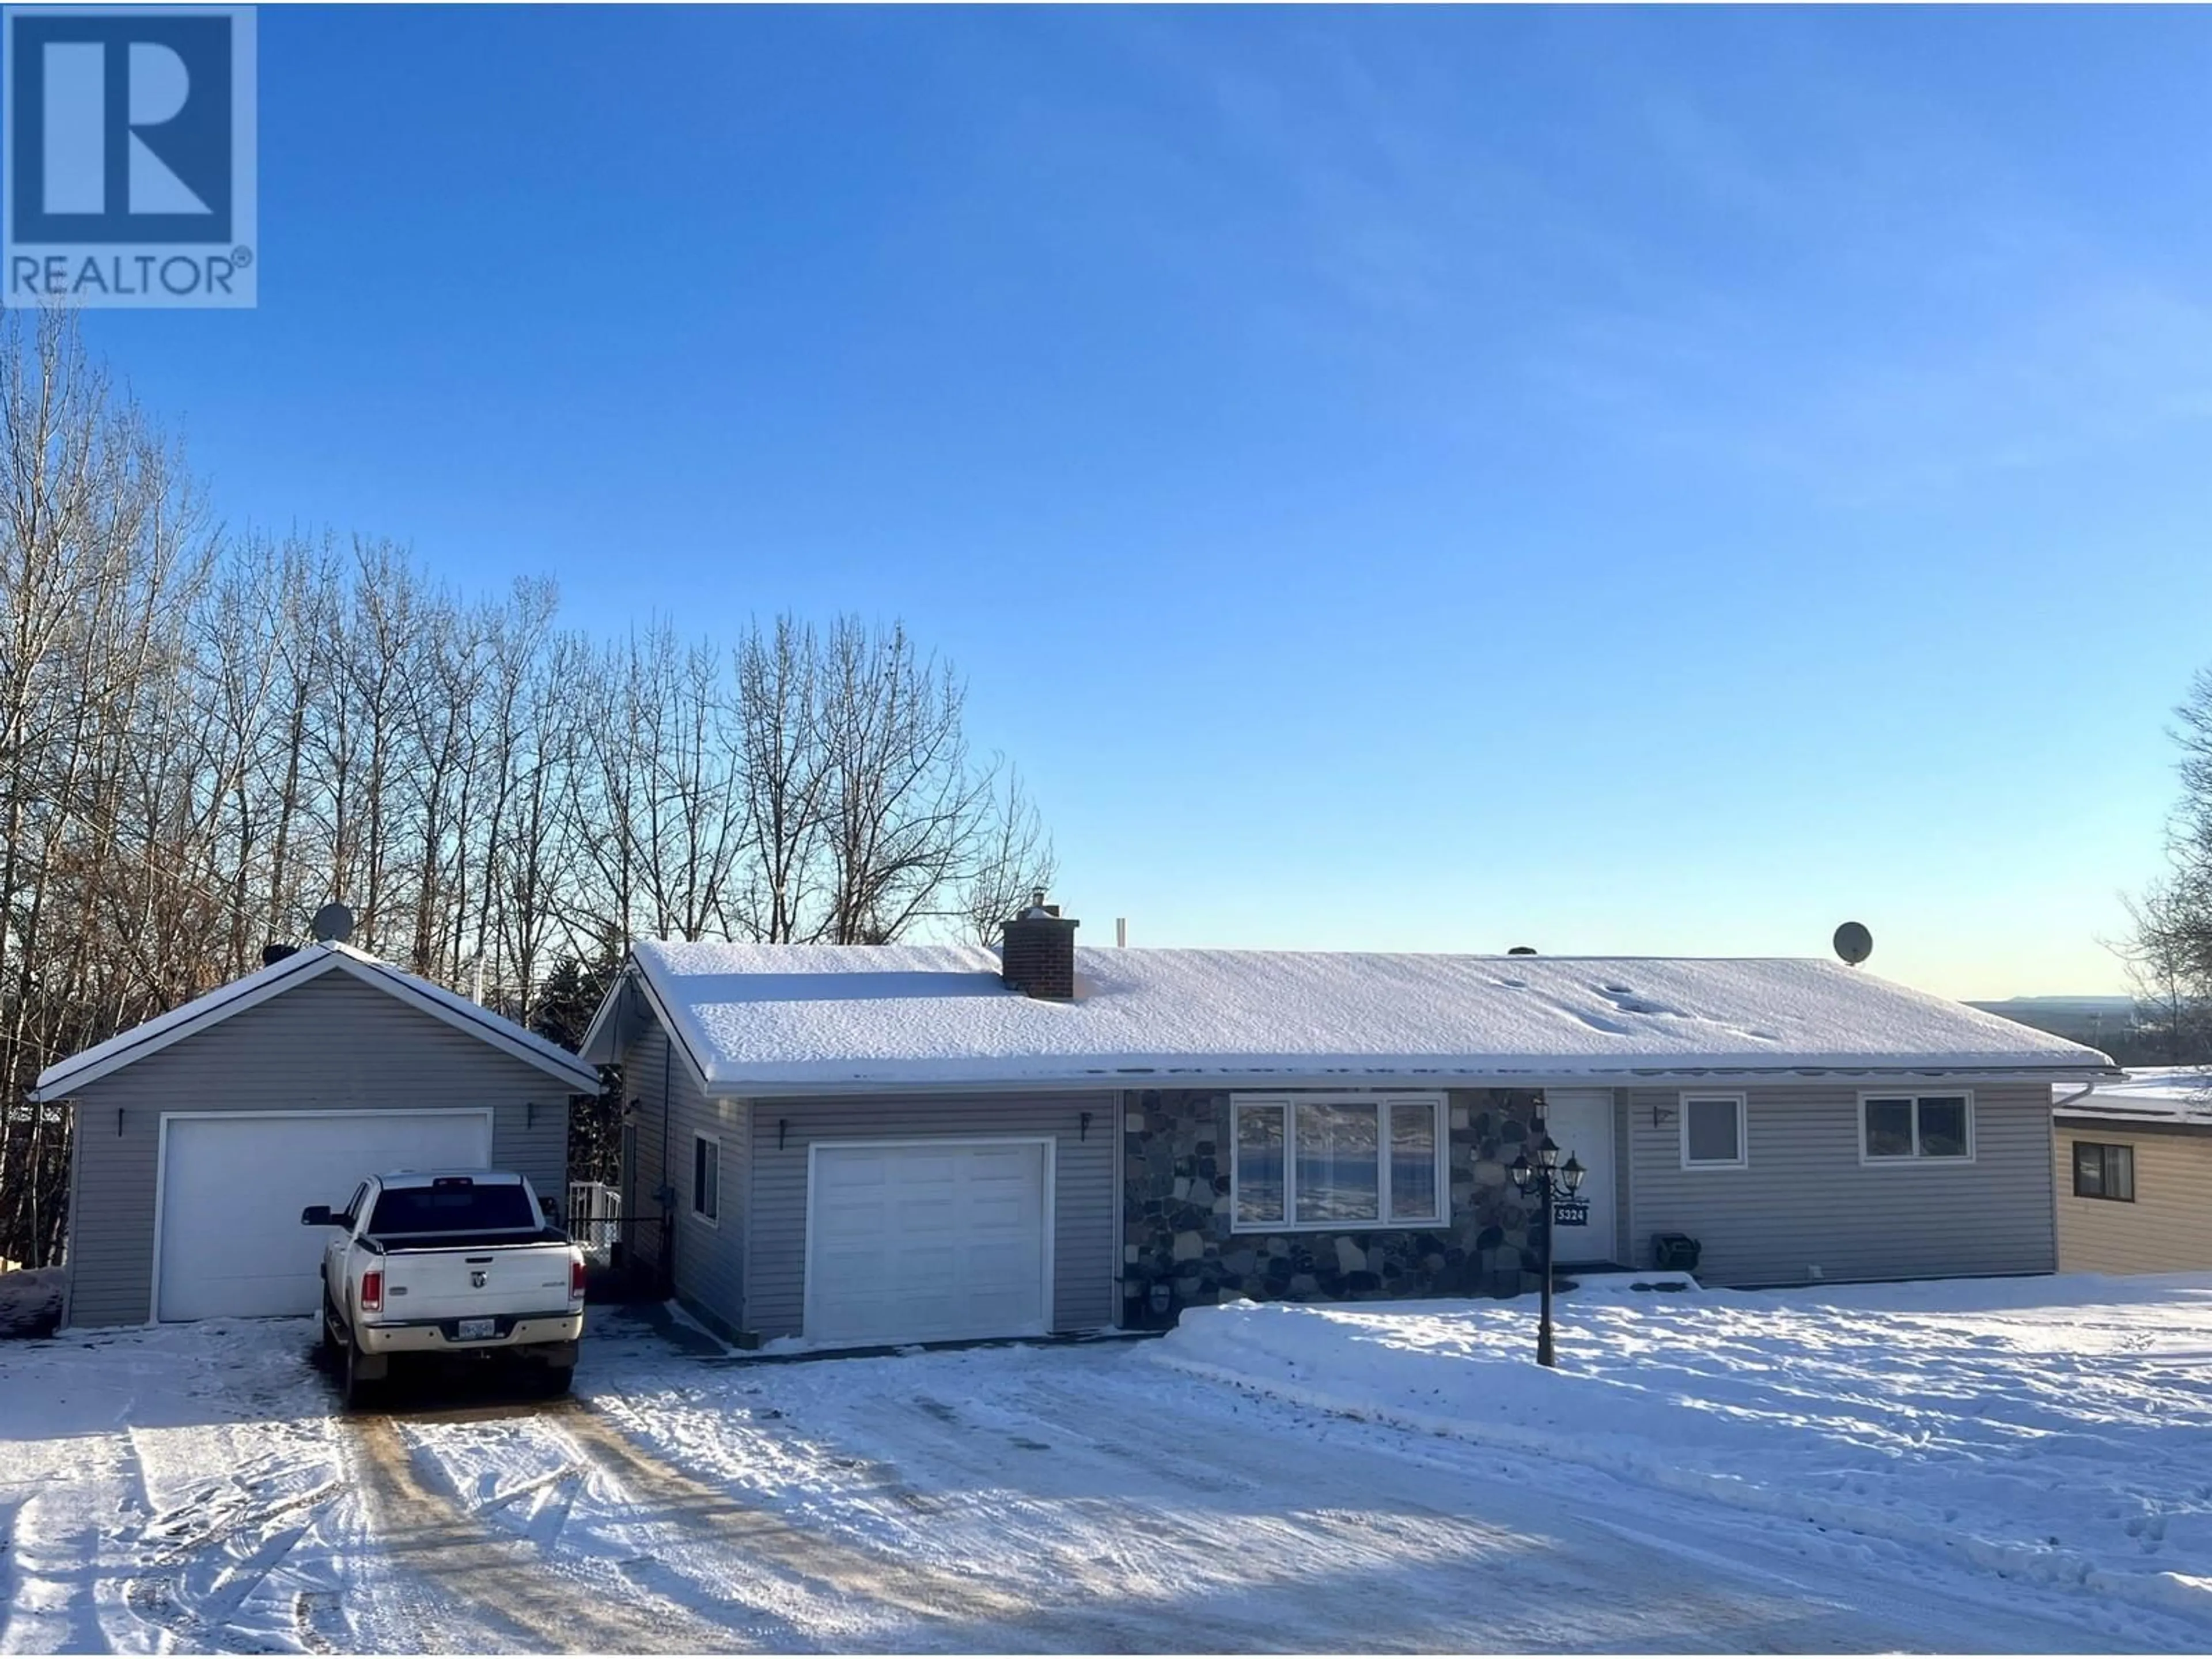
[[[575,1374],[584,1252],[520,1175],[400,1170],[363,1181],[343,1210],[301,1225],[323,1245],[323,1347],[358,1407],[398,1354],[478,1354],[542,1367],[549,1394]]]

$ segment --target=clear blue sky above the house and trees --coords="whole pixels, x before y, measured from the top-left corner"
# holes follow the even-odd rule
[[[2104,991],[2212,661],[2208,75],[2185,9],[263,9],[261,307],[88,332],[230,524],[905,617],[1084,938]]]

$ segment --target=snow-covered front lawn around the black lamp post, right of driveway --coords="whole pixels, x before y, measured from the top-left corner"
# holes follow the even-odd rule
[[[1183,1314],[1285,1400],[2183,1613],[2212,1630],[2212,1274]]]

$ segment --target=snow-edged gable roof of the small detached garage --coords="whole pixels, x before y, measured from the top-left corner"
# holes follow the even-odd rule
[[[170,1009],[168,1013],[148,1020],[146,1024],[119,1031],[80,1055],[71,1055],[69,1060],[46,1066],[46,1071],[38,1075],[38,1084],[31,1088],[31,1099],[62,1099],[64,1095],[100,1082],[108,1073],[137,1064],[146,1055],[161,1053],[173,1042],[197,1035],[212,1024],[221,1024],[234,1013],[246,1013],[246,1009],[259,1006],[261,1002],[283,995],[285,991],[307,984],[310,980],[319,980],[325,973],[349,973],[363,984],[398,998],[407,1006],[420,1009],[456,1031],[465,1031],[529,1066],[538,1066],[538,1071],[557,1077],[575,1093],[599,1093],[599,1073],[593,1071],[593,1066],[584,1064],[560,1044],[546,1042],[535,1031],[524,1031],[513,1020],[502,1020],[491,1009],[469,1002],[469,998],[447,991],[442,984],[431,984],[414,973],[403,973],[389,962],[367,956],[365,951],[356,951],[352,945],[321,942],[305,945],[292,956],[248,973],[243,980],[217,987],[204,998],[195,998],[179,1009]]]

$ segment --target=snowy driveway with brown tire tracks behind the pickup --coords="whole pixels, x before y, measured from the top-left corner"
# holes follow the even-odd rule
[[[577,1402],[354,1420],[305,1323],[7,1345],[0,1652],[2212,1639],[2185,1610],[1557,1455],[1579,1438],[1557,1409],[1500,1444],[1161,1363],[1272,1365],[1219,1336],[1197,1358],[1210,1321],[1237,1314],[1168,1343],[748,1365],[595,1316]],[[1303,1365],[1287,1387],[1327,1394]]]

